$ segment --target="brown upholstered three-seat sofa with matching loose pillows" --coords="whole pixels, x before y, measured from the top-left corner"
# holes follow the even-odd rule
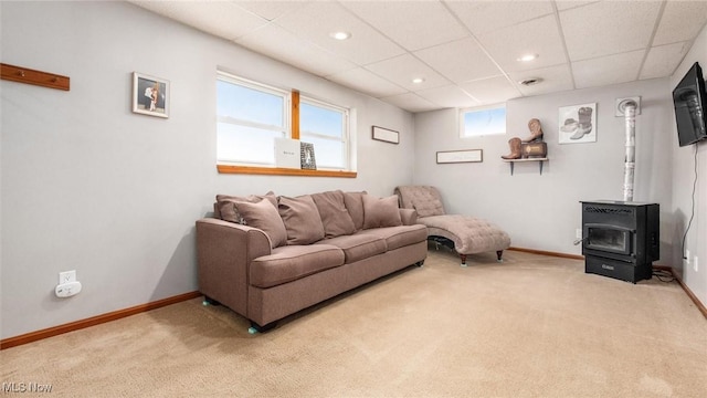
[[[217,196],[197,221],[199,290],[251,333],[428,255],[428,231],[398,197],[327,191]]]

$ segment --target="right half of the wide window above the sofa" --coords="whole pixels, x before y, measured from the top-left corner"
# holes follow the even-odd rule
[[[348,109],[310,98],[299,102],[299,140],[314,144],[318,168],[348,169]]]

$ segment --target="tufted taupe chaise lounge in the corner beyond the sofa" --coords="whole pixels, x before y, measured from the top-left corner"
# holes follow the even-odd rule
[[[466,266],[466,255],[496,251],[502,261],[503,251],[510,247],[510,237],[486,220],[463,214],[447,214],[442,197],[430,186],[400,186],[395,188],[400,207],[415,209],[418,223],[428,227],[428,240],[455,250],[462,266]]]

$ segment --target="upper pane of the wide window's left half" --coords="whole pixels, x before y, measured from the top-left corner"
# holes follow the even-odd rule
[[[270,126],[284,126],[284,98],[246,86],[217,81],[219,116],[251,121]]]

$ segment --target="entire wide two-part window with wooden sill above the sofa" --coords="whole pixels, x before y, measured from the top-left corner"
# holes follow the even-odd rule
[[[220,172],[356,177],[350,111],[219,72],[217,164]],[[291,122],[292,121],[292,122]],[[292,123],[292,126],[291,126]],[[314,144],[317,170],[275,167],[275,138]]]

